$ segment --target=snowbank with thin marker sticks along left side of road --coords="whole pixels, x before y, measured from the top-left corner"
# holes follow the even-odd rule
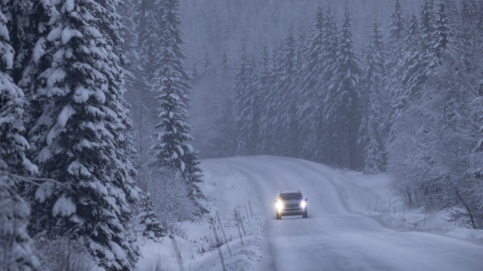
[[[245,177],[234,170],[229,162],[205,160],[201,168],[204,171],[201,189],[208,198],[206,205],[209,216],[213,218],[216,234],[223,243],[220,249],[224,264],[227,270],[250,270],[261,257],[260,240],[265,223],[257,211],[258,203],[252,196],[252,188],[247,186]],[[240,227],[237,226],[235,210],[242,220]],[[230,251],[216,212],[220,216]],[[141,241],[142,258],[137,264],[138,271],[222,270],[217,249],[220,243],[216,242],[210,219],[182,222],[177,226],[179,230],[174,236],[175,241],[169,237],[158,242]],[[176,251],[179,251],[180,264],[174,256]]]

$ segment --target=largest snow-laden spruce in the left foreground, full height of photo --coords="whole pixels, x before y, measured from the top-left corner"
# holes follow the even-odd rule
[[[31,129],[43,177],[33,230],[82,242],[107,270],[129,270],[138,247],[126,228],[138,189],[127,150],[118,0],[51,2]],[[79,12],[81,11],[81,12]]]

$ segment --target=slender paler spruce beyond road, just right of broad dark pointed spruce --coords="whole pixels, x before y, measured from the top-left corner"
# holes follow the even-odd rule
[[[364,152],[364,174],[377,174],[384,171],[384,144],[380,134],[383,105],[380,93],[384,70],[383,50],[380,23],[375,19],[365,52],[361,82],[364,109],[357,142],[362,145]]]

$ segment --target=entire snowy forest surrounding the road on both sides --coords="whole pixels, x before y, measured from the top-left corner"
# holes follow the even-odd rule
[[[483,229],[483,0],[2,0],[0,56],[0,271],[134,270],[207,219],[200,158],[388,174]]]

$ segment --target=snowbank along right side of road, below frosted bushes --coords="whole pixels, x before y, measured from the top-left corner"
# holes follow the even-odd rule
[[[386,174],[363,175],[338,169],[331,175],[354,213],[373,216],[402,231],[432,232],[483,243],[483,230],[467,229],[449,222],[449,210],[434,213],[425,213],[423,208],[408,210],[403,201],[391,194],[390,178]]]

